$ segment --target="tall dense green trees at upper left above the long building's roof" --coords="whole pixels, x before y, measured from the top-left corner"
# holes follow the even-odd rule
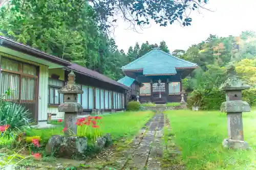
[[[94,69],[101,41],[95,19],[83,0],[13,0],[0,9],[0,34]]]

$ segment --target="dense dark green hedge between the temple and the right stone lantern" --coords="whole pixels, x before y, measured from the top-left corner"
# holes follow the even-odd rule
[[[200,110],[219,110],[225,101],[225,92],[218,88],[195,89],[187,98],[188,108],[199,106]]]

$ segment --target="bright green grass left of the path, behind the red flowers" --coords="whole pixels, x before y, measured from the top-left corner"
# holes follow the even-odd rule
[[[114,140],[134,136],[154,115],[152,111],[124,112],[102,115],[100,122],[103,135],[110,133]],[[40,136],[42,142],[47,142],[52,135],[63,134],[63,126],[50,129],[28,129],[28,136]],[[79,129],[78,129],[79,131]]]

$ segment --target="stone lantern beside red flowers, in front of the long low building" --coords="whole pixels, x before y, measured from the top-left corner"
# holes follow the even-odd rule
[[[68,75],[68,83],[58,90],[59,93],[64,94],[64,103],[60,104],[59,112],[65,112],[64,125],[67,130],[66,136],[77,133],[76,119],[77,114],[82,112],[82,106],[77,103],[77,94],[82,94],[83,91],[75,85],[75,74],[73,71]]]

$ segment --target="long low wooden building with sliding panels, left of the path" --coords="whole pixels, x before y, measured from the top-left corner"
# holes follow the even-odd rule
[[[49,114],[52,118],[63,117],[63,113],[58,112],[58,105],[63,102],[63,94],[59,94],[58,89],[67,83],[71,70],[75,72],[76,84],[83,90],[78,99],[82,114],[126,107],[129,87],[3,36],[0,36],[0,68],[0,93],[11,89],[11,95],[4,96],[5,100],[25,106],[37,124],[45,124]]]

